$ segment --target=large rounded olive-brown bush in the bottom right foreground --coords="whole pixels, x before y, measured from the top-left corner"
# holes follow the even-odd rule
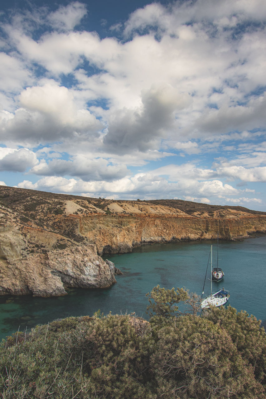
[[[229,334],[209,320],[181,316],[161,328],[157,339],[151,367],[158,397],[262,397],[252,367],[246,366]]]

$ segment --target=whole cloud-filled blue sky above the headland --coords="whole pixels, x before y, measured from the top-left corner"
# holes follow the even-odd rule
[[[265,0],[0,9],[0,184],[266,211]]]

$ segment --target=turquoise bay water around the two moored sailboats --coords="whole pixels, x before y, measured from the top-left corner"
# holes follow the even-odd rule
[[[216,243],[213,242],[213,263]],[[210,241],[144,245],[132,253],[109,255],[107,259],[121,269],[123,275],[110,288],[70,289],[58,298],[25,296],[0,297],[0,339],[18,328],[25,330],[67,316],[136,312],[147,318],[145,294],[159,284],[165,288],[185,286],[201,295]],[[264,293],[266,290],[266,236],[244,241],[219,241],[219,267],[225,277],[215,287],[230,291],[229,303],[238,311],[246,310],[266,322]],[[206,280],[204,293],[210,292]]]

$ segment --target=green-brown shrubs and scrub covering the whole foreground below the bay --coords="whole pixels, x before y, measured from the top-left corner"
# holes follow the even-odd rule
[[[261,399],[266,334],[246,312],[213,308],[159,286],[149,322],[134,315],[69,317],[17,332],[0,347],[0,397]],[[177,304],[189,304],[183,311]]]

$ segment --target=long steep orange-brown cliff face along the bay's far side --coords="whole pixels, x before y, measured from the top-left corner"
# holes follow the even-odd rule
[[[93,226],[93,228],[92,228]],[[124,253],[143,243],[242,239],[266,232],[266,217],[241,216],[230,219],[178,217],[172,215],[135,215],[80,218],[78,228],[98,253]]]

